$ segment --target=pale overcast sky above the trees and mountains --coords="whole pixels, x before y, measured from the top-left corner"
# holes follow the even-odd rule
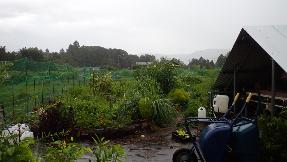
[[[59,52],[80,46],[129,54],[231,49],[242,26],[287,25],[286,0],[0,0],[0,45]]]

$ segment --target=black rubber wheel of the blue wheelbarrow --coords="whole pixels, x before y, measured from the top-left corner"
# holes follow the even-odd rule
[[[188,160],[191,151],[190,148],[180,148],[176,150],[172,156],[172,162],[184,162],[184,160]],[[197,156],[194,152],[192,153],[190,162],[197,162]]]

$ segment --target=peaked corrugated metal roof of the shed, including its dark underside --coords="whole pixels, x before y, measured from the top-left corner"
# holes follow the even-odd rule
[[[266,79],[270,58],[287,71],[287,25],[243,27],[212,89],[233,85],[234,69],[239,85]]]

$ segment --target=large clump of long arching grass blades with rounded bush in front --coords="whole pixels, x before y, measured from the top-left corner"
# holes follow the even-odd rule
[[[171,99],[163,96],[163,91],[155,79],[143,78],[130,84],[126,94],[126,105],[121,104],[121,112],[132,112],[137,117],[147,118],[155,124],[169,123],[174,113]]]

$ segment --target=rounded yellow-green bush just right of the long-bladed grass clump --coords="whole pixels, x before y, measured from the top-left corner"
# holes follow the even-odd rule
[[[171,90],[167,96],[174,100],[175,104],[178,104],[183,108],[188,106],[190,100],[188,92],[185,92],[183,88]]]

